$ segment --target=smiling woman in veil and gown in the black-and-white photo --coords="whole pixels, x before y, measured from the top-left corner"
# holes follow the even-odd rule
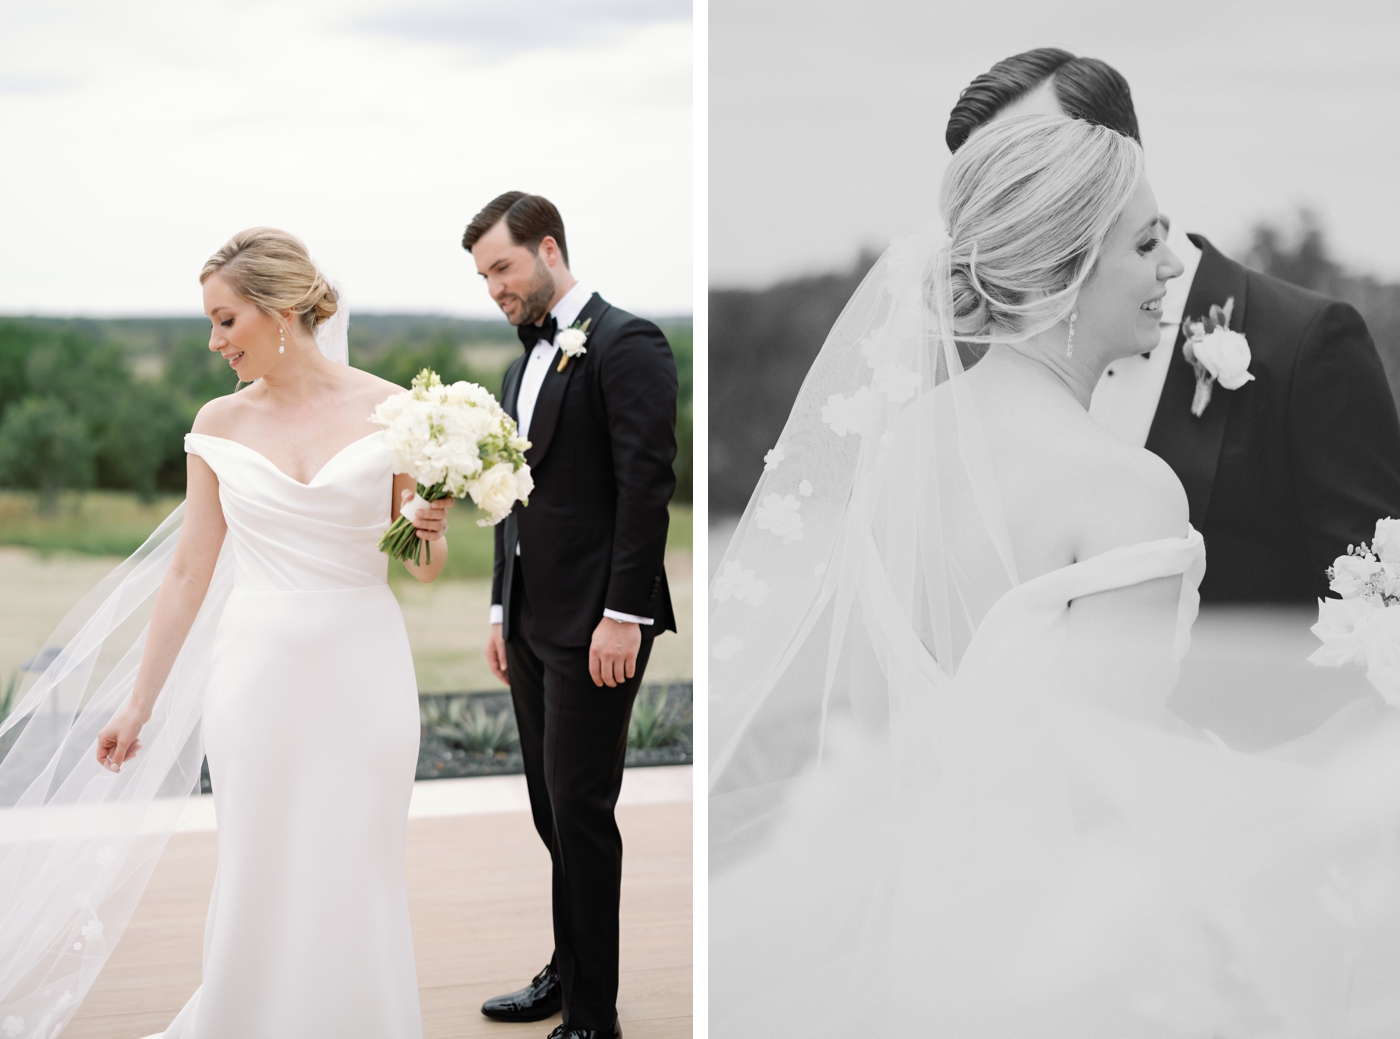
[[[1394,718],[1263,756],[1166,711],[1205,546],[1086,410],[1182,272],[1141,148],[1008,119],[939,202],[711,590],[713,1035],[1396,1035]]]

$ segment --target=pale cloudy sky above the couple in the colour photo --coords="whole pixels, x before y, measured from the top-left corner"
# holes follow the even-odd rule
[[[0,0],[0,314],[197,314],[272,224],[351,309],[494,315],[459,242],[510,189],[689,314],[690,48],[689,0]]]

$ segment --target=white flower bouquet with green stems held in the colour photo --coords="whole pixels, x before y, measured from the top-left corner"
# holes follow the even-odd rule
[[[494,527],[517,501],[529,504],[535,489],[525,463],[529,441],[517,434],[515,420],[496,398],[475,382],[444,386],[435,371],[424,368],[412,389],[375,407],[370,420],[388,434],[395,472],[417,480],[424,501],[470,494],[490,517],[477,520],[479,527]],[[423,546],[405,515],[379,539],[379,552],[414,564]],[[431,548],[427,560],[433,562]]]

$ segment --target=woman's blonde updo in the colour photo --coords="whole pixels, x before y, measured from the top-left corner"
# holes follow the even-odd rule
[[[295,312],[308,332],[335,314],[340,301],[302,241],[274,227],[251,227],[230,238],[204,262],[199,283],[214,273],[265,314]]]

